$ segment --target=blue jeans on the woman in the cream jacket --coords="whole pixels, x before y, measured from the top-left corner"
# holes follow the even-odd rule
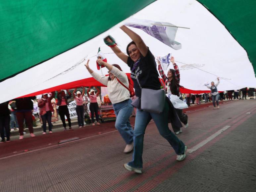
[[[115,103],[113,104],[113,108],[117,117],[115,123],[116,129],[119,131],[126,144],[132,143],[133,129],[129,121],[133,110],[131,99],[122,101],[120,103]]]

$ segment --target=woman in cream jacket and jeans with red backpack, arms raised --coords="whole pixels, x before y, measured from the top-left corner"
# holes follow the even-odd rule
[[[124,153],[129,153],[133,150],[133,129],[129,121],[133,107],[131,105],[130,93],[127,89],[129,87],[128,77],[117,64],[110,65],[101,59],[97,59],[97,63],[105,66],[109,70],[109,76],[101,78],[100,74],[93,72],[93,70],[89,68],[89,60],[85,64],[85,67],[97,81],[107,86],[109,99],[113,104],[117,118],[115,127],[118,129],[127,144]],[[127,88],[124,87],[117,78]]]

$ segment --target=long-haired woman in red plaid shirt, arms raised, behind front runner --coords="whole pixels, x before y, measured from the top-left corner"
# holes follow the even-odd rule
[[[180,81],[179,67],[175,63],[174,57],[171,57],[170,61],[172,62],[174,69],[169,69],[167,72],[167,76],[165,75],[164,70],[163,70],[159,60],[157,60],[158,71],[165,82],[165,92],[167,94],[177,95],[179,97],[179,99],[181,101],[183,101],[183,98],[179,92],[179,87],[180,87],[180,85],[179,85],[179,81]],[[179,116],[180,121],[184,124],[184,127],[187,128],[188,127],[187,115],[182,113],[182,109],[175,108],[175,110],[176,110],[177,115]],[[176,127],[173,123],[172,123],[172,127],[173,127],[175,134],[179,134],[182,132],[181,128]]]

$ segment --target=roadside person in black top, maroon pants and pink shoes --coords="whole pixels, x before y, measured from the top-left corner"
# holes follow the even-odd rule
[[[20,132],[20,138],[23,139],[24,135],[24,119],[26,121],[26,126],[28,127],[28,130],[30,132],[31,137],[35,137],[34,129],[33,129],[33,120],[32,120],[32,110],[33,102],[31,100],[34,100],[34,97],[24,97],[24,98],[18,98],[15,99],[16,101],[16,117],[19,123],[19,132]]]

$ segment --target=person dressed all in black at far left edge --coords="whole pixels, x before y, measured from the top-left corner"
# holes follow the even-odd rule
[[[0,143],[5,142],[6,134],[6,142],[10,142],[10,110],[8,108],[8,101],[0,104]]]

